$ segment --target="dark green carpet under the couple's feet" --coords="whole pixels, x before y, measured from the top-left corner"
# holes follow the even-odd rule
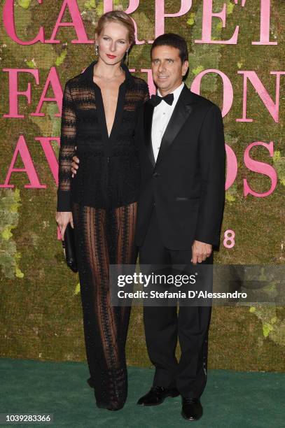
[[[122,410],[110,412],[95,406],[94,392],[85,381],[86,364],[3,358],[0,413],[53,413],[50,426],[56,428],[176,428],[193,423],[207,428],[284,427],[284,373],[209,370],[208,375],[201,399],[204,415],[188,422],[180,414],[181,397],[166,399],[160,406],[136,406],[151,387],[152,369],[129,368],[127,403]]]

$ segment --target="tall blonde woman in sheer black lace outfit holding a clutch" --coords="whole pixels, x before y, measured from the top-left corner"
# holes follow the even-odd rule
[[[123,58],[134,24],[121,11],[99,19],[98,61],[67,81],[62,104],[56,221],[76,237],[85,349],[97,406],[118,410],[127,398],[125,341],[130,307],[110,303],[109,264],[134,264],[140,170],[134,138],[148,86]],[[80,159],[71,177],[72,157]]]

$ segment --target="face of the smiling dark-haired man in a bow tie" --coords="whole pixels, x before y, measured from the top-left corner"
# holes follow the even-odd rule
[[[188,65],[188,61],[181,62],[177,48],[167,45],[153,48],[151,52],[153,81],[163,97],[181,85]]]

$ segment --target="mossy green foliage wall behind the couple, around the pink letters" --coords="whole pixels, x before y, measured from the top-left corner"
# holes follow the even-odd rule
[[[214,1],[216,11],[227,3],[227,21],[213,19],[212,38],[228,39],[239,24],[237,45],[207,45],[194,43],[201,38],[202,1],[193,1],[190,11],[181,17],[167,18],[165,31],[177,32],[186,37],[190,51],[190,71],[187,85],[203,69],[219,69],[226,73],[233,86],[234,102],[224,117],[225,139],[235,151],[238,174],[235,183],[226,192],[226,206],[222,231],[233,229],[235,246],[224,248],[216,255],[216,263],[223,264],[282,264],[284,263],[284,234],[281,228],[284,216],[284,76],[281,76],[280,122],[277,124],[266,110],[254,88],[248,85],[248,117],[253,122],[236,122],[242,117],[241,70],[256,71],[275,99],[275,76],[270,71],[282,71],[284,66],[285,3],[271,2],[270,40],[278,45],[251,45],[259,40],[260,1],[247,1],[241,8],[234,1]],[[0,1],[1,10],[4,1]],[[18,37],[34,38],[39,26],[45,28],[46,38],[62,6],[61,1],[15,1],[15,24]],[[103,12],[102,1],[78,0],[78,7],[89,38],[94,36],[94,26]],[[128,1],[114,1],[116,8],[125,10]],[[154,37],[155,1],[144,0],[132,13],[138,25],[139,39]],[[175,13],[181,2],[165,1],[166,13]],[[69,13],[64,15],[70,21]],[[83,321],[81,313],[78,276],[64,264],[62,246],[57,241],[55,224],[56,185],[36,136],[60,136],[60,117],[54,102],[43,104],[44,117],[34,117],[50,67],[55,66],[62,87],[67,79],[80,73],[94,59],[92,45],[71,44],[76,38],[72,27],[60,29],[57,38],[61,43],[18,45],[6,34],[3,22],[0,28],[0,61],[3,68],[39,69],[40,85],[32,76],[21,73],[19,90],[26,90],[32,82],[32,104],[19,97],[19,111],[25,119],[6,119],[8,113],[8,73],[1,72],[1,183],[4,183],[15,145],[20,134],[25,136],[29,152],[41,183],[46,189],[26,189],[25,173],[13,173],[11,189],[0,189],[0,355],[2,357],[32,358],[42,360],[85,359]],[[130,68],[149,69],[151,45],[134,46],[130,55]],[[136,72],[146,78],[146,73]],[[283,79],[283,80],[282,80]],[[221,78],[211,73],[202,78],[204,97],[219,106],[223,101]],[[53,97],[53,91],[48,93]],[[243,196],[243,178],[247,178],[256,192],[270,187],[266,176],[252,173],[244,166],[244,150],[252,141],[274,141],[274,157],[267,150],[252,150],[254,159],[272,164],[278,173],[278,183],[269,197]],[[53,148],[58,155],[57,144]],[[16,167],[21,168],[18,158]],[[282,202],[283,198],[283,202]],[[283,217],[284,218],[284,217]],[[223,239],[222,239],[223,241]],[[285,329],[284,308],[251,306],[214,308],[209,338],[209,367],[219,369],[282,371],[284,363]],[[150,366],[144,343],[140,308],[133,308],[127,340],[127,361],[130,365]]]

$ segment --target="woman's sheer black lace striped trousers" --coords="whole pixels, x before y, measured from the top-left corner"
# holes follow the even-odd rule
[[[120,408],[127,398],[125,341],[130,306],[111,306],[109,264],[134,264],[137,203],[119,208],[73,204],[85,350],[97,405]]]

